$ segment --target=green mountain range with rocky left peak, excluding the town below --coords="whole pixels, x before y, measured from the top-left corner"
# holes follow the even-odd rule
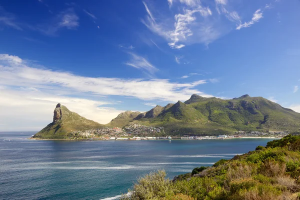
[[[156,105],[146,112],[125,111],[108,124],[88,120],[57,104],[52,123],[34,137],[62,138],[68,132],[104,126],[122,127],[130,122],[163,126],[167,134],[232,134],[236,130],[300,130],[300,113],[263,97],[245,94],[233,99],[192,94],[185,102]]]

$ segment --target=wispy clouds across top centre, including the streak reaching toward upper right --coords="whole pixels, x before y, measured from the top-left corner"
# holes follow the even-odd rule
[[[146,16],[141,22],[153,33],[162,36],[171,48],[180,49],[192,43],[203,43],[206,46],[230,32],[235,26],[239,30],[258,22],[265,9],[271,8],[270,4],[257,9],[251,20],[241,22],[239,13],[234,10],[234,4],[228,0],[214,0],[213,12],[209,6],[203,6],[200,0],[167,0],[170,8],[167,13],[159,13],[153,4],[143,2]],[[206,4],[207,5],[207,4]],[[153,10],[153,12],[151,12]],[[173,14],[175,13],[175,14]],[[216,15],[224,15],[219,17]],[[230,23],[226,22],[230,21]]]

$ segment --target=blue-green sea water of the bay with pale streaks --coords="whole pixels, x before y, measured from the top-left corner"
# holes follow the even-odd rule
[[[271,140],[26,139],[32,134],[0,133],[0,199],[115,199],[150,171],[173,178]]]

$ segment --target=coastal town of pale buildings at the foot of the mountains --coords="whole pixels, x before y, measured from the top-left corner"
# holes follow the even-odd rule
[[[101,140],[153,140],[153,139],[229,139],[229,138],[250,138],[269,137],[281,138],[289,132],[285,131],[235,131],[232,135],[167,135],[163,127],[146,126],[142,124],[129,123],[120,127],[104,127],[84,131],[73,131],[68,134],[69,139],[101,139]]]

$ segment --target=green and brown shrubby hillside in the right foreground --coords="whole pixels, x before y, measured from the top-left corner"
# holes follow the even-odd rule
[[[139,178],[131,196],[141,199],[300,199],[300,136],[287,135],[211,167],[165,179],[164,171]]]

